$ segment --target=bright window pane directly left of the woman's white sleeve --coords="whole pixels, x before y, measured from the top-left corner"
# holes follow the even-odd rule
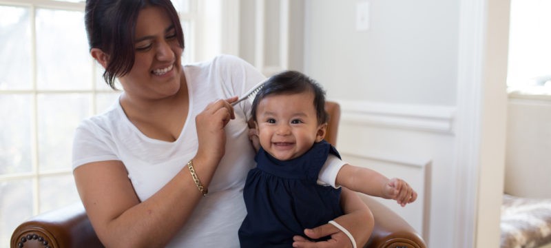
[[[89,94],[38,97],[39,171],[71,169],[74,130],[90,116]]]

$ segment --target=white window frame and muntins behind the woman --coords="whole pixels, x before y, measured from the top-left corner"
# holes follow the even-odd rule
[[[188,0],[189,1],[189,12],[181,13],[180,10],[178,12],[180,13],[180,21],[182,21],[183,25],[187,25],[189,30],[184,30],[185,33],[187,33],[189,36],[194,37],[194,32],[196,30],[195,26],[198,22],[198,18],[200,17],[200,14],[197,12],[197,0]],[[41,180],[44,178],[56,178],[61,176],[72,176],[72,167],[71,165],[67,165],[64,169],[41,169],[41,163],[40,163],[40,154],[39,154],[39,97],[41,95],[52,95],[52,94],[86,94],[87,97],[90,99],[90,110],[89,115],[91,116],[94,114],[98,114],[97,106],[98,106],[98,97],[100,94],[120,94],[120,92],[116,92],[109,87],[98,87],[98,73],[97,71],[101,69],[101,65],[96,63],[96,61],[93,61],[90,59],[91,63],[90,66],[92,67],[92,79],[90,79],[90,83],[92,83],[91,87],[88,87],[85,90],[39,90],[39,86],[37,85],[37,66],[39,66],[37,63],[37,27],[36,27],[36,16],[37,16],[37,10],[38,9],[48,9],[48,10],[69,10],[69,11],[79,11],[84,12],[85,9],[85,1],[80,1],[78,3],[75,2],[67,2],[67,1],[56,1],[56,0],[19,0],[19,1],[13,1],[13,0],[0,0],[0,6],[10,6],[10,7],[22,7],[22,8],[28,8],[30,14],[29,14],[29,22],[30,22],[30,81],[31,85],[29,86],[29,89],[24,90],[6,90],[6,89],[0,89],[0,96],[2,95],[17,95],[22,94],[29,96],[31,99],[31,133],[30,133],[30,156],[32,158],[30,159],[30,169],[28,172],[16,172],[16,173],[10,173],[10,174],[0,174],[0,184],[1,183],[14,183],[17,184],[19,182],[28,182],[29,180],[32,182],[32,189],[30,189],[30,192],[32,192],[32,196],[29,195],[23,195],[19,196],[21,198],[30,198],[32,197],[32,216],[35,216],[37,214],[41,214],[44,211],[47,211],[49,209],[42,209],[44,207],[41,207],[44,203],[43,200],[41,200]],[[185,24],[187,23],[187,24]],[[84,28],[84,27],[83,27]],[[191,50],[189,48],[195,48],[194,43],[196,43],[193,39],[186,39],[186,52],[185,58],[183,59],[183,63],[187,63],[189,61],[194,61],[194,55],[196,52],[194,50]],[[100,78],[101,79],[101,78]],[[122,87],[119,87],[122,88]],[[69,151],[70,152],[70,151]],[[76,190],[75,190],[76,192]],[[76,196],[78,198],[78,195]],[[63,203],[56,203],[54,205],[63,205]],[[1,207],[1,206],[0,206]],[[61,206],[60,206],[61,207]],[[45,208],[48,208],[45,206]],[[27,218],[30,216],[27,216]],[[21,220],[23,222],[24,219]],[[9,224],[8,224],[9,226]],[[9,230],[8,230],[9,231]],[[11,232],[9,234],[3,234],[6,236],[10,236]],[[8,238],[9,238],[8,236]],[[0,240],[1,240],[0,236]],[[8,240],[9,241],[9,240]]]

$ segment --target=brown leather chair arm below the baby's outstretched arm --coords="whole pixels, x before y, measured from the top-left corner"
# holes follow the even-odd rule
[[[377,200],[359,194],[368,205],[375,218],[375,227],[371,238],[364,247],[370,248],[426,248],[426,244],[417,231],[406,220]]]

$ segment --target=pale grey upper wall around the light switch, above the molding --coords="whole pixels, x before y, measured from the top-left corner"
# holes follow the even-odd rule
[[[358,1],[308,2],[305,70],[330,97],[455,105],[457,0],[369,1],[367,32],[355,30]]]

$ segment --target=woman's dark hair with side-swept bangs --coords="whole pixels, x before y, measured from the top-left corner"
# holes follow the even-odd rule
[[[115,77],[124,76],[134,65],[134,34],[138,13],[146,6],[163,8],[174,23],[176,39],[184,48],[184,35],[178,12],[170,0],[87,0],[84,22],[90,50],[109,54],[103,79],[113,89]]]

